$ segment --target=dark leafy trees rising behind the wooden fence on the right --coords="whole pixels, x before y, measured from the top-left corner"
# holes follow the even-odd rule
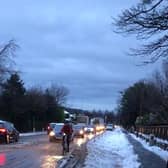
[[[120,93],[117,120],[124,126],[168,124],[168,63],[151,79],[141,80]]]

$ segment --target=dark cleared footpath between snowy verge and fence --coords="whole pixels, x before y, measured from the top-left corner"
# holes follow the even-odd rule
[[[127,134],[129,142],[133,145],[134,152],[139,157],[140,168],[167,168],[166,162],[158,155],[146,150],[142,144]]]

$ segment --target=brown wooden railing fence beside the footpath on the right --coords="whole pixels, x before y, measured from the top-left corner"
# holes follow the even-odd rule
[[[168,140],[168,125],[136,126],[136,131],[143,134],[153,134],[157,138]]]

